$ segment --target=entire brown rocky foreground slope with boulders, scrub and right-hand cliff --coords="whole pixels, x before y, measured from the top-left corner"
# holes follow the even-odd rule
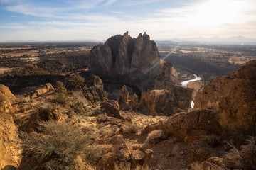
[[[125,86],[118,101],[108,100],[95,75],[71,76],[68,91],[62,83],[46,84],[14,96],[1,85],[0,166],[256,169],[255,84],[252,60],[208,81],[196,109],[169,117],[153,113],[171,112],[166,103],[174,102],[168,100],[175,89],[150,91],[139,102]]]

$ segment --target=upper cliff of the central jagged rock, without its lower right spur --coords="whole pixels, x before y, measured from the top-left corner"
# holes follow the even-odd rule
[[[91,55],[90,69],[107,74],[147,74],[159,68],[154,67],[156,64],[163,64],[156,43],[146,33],[139,34],[138,38],[130,37],[128,32],[115,35],[104,45],[93,47]]]

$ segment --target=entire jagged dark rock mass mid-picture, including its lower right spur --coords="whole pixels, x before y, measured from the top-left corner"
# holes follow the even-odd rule
[[[164,82],[161,86],[175,81],[171,70],[171,64],[164,64],[156,43],[146,33],[139,34],[137,38],[130,37],[128,32],[123,36],[115,35],[104,45],[97,45],[91,50],[90,72],[123,77],[124,82],[142,89],[154,89],[154,79],[159,74],[157,83]]]

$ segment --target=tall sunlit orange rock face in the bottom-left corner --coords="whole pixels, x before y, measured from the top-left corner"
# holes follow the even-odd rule
[[[18,167],[21,162],[21,149],[18,145],[18,132],[9,113],[0,112],[0,168]]]

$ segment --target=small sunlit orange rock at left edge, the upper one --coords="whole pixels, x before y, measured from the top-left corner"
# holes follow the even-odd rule
[[[17,100],[16,96],[11,93],[7,86],[0,84],[0,113],[10,112],[11,104]]]

